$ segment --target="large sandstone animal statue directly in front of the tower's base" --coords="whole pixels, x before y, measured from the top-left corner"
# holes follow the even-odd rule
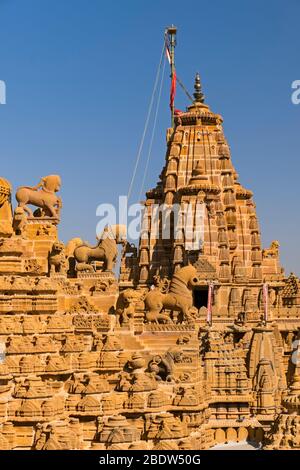
[[[174,274],[169,292],[163,294],[159,289],[150,290],[145,297],[146,320],[148,322],[166,322],[170,323],[171,318],[164,309],[181,312],[187,320],[192,319],[190,310],[193,307],[194,286],[199,284],[197,270],[189,265],[179,269]]]

